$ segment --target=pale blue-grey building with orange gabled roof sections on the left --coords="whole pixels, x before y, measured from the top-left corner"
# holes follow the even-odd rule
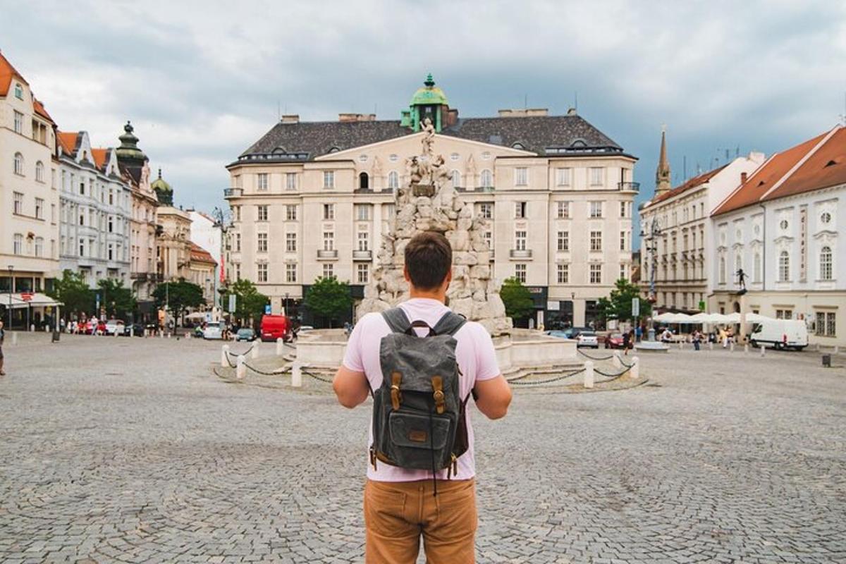
[[[85,131],[59,132],[59,266],[90,287],[112,278],[130,285],[132,191],[113,149],[91,147]]]

